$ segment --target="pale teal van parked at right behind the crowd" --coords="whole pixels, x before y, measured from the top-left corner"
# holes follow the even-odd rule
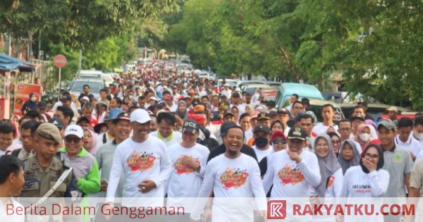
[[[290,96],[293,94],[298,94],[298,97],[324,100],[321,92],[314,85],[284,82],[279,87],[278,94],[276,95],[276,108],[285,107],[283,104],[289,100]]]

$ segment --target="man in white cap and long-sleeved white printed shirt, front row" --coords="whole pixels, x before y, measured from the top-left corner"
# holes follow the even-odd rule
[[[147,200],[123,199],[123,206],[164,205],[164,182],[171,173],[171,162],[165,144],[149,135],[149,121],[149,114],[143,109],[136,109],[130,114],[133,136],[116,147],[107,186],[106,203],[109,204],[106,208],[113,207],[122,170],[125,173],[123,197],[154,197]]]

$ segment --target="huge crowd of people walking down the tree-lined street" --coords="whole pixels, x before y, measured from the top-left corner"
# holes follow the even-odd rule
[[[172,197],[419,197],[423,186],[419,114],[375,123],[361,104],[339,119],[331,104],[313,113],[296,94],[276,109],[261,90],[160,66],[121,75],[99,98],[83,90],[0,124],[1,197],[105,197],[110,207],[154,197],[148,204],[186,206],[181,221],[231,221],[230,209]],[[243,220],[265,211],[259,202]],[[402,220],[370,221],[383,219]]]

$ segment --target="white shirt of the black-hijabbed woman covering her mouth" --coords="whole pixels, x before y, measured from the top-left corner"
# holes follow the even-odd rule
[[[341,197],[348,197],[347,204],[357,204],[361,200],[363,204],[372,202],[375,205],[375,209],[379,209],[382,202],[381,198],[350,199],[350,197],[383,197],[386,190],[388,190],[388,184],[389,173],[384,169],[379,169],[379,171],[373,171],[372,173],[364,173],[360,165],[351,166],[344,175]],[[344,219],[345,222],[358,220],[366,222],[384,221],[384,216],[376,214],[372,216],[345,216]]]

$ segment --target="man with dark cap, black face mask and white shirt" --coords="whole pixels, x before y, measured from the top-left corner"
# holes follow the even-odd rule
[[[270,144],[271,132],[267,125],[259,124],[253,130],[254,149],[257,160],[260,162],[266,156],[274,153],[274,149]]]

